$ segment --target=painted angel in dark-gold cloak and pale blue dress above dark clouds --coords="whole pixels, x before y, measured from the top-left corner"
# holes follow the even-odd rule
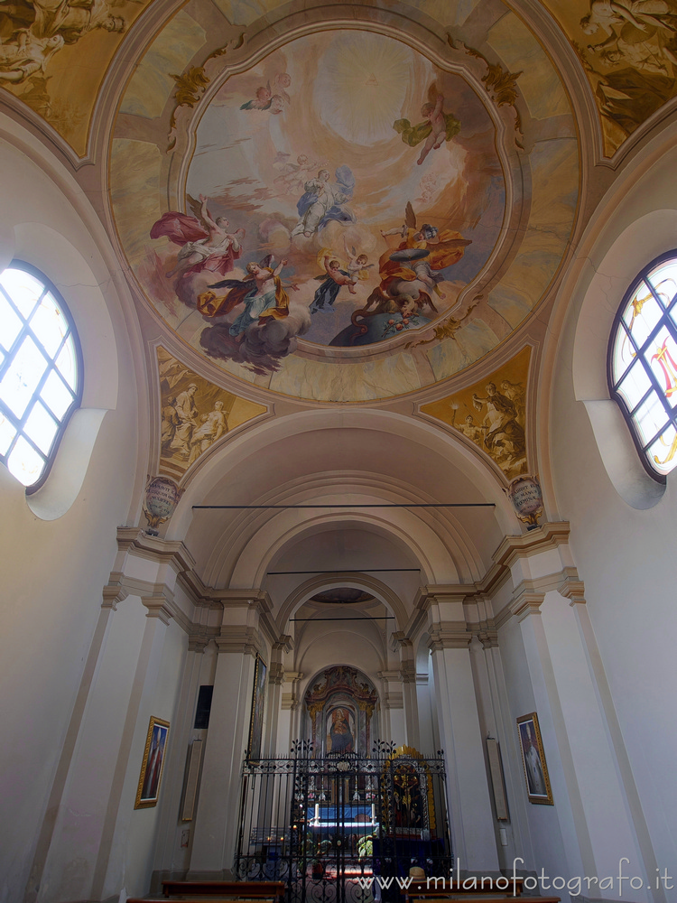
[[[206,317],[222,317],[244,304],[245,310],[233,321],[228,330],[233,337],[242,335],[250,326],[263,326],[267,320],[282,320],[289,314],[289,295],[284,291],[280,274],[287,261],[281,261],[275,269],[273,258],[267,257],[261,264],[246,265],[245,279],[224,279],[210,285],[210,289],[227,288],[220,298],[212,291],[198,298],[198,310]]]

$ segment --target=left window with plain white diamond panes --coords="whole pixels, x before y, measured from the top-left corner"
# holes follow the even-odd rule
[[[0,274],[0,461],[33,492],[82,396],[82,354],[63,298],[30,264]]]

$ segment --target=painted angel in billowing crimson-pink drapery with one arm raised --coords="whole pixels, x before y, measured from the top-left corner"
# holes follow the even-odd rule
[[[199,196],[199,207],[192,198],[188,200],[198,216],[191,217],[171,210],[164,213],[151,228],[151,238],[167,236],[175,245],[181,246],[176,265],[165,275],[169,279],[177,273],[185,277],[202,270],[224,275],[229,273],[242,254],[245,229],[228,232],[228,220],[226,217],[214,219],[211,216],[208,199],[203,194]]]

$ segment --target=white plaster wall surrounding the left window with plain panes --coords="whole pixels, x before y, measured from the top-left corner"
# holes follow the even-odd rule
[[[4,138],[0,166],[2,265],[14,256],[17,241],[23,243],[19,249],[24,259],[30,260],[32,254],[32,260],[40,265],[43,257],[50,257],[49,247],[38,247],[37,242],[26,247],[25,235],[14,235],[12,224],[19,219],[37,224],[36,232],[41,235],[44,227],[53,229],[64,244],[79,248],[81,260],[91,269],[92,284],[105,299],[110,324],[106,334],[89,336],[100,349],[98,355],[95,349],[94,358],[110,360],[112,354],[118,370],[115,400],[107,405],[110,409],[98,431],[81,487],[65,513],[53,520],[36,517],[23,486],[0,465],[0,682],[5,688],[0,698],[5,738],[0,747],[0,810],[5,814],[0,825],[0,900],[14,903],[23,899],[29,880],[97,624],[101,590],[116,555],[116,526],[125,523],[131,503],[138,390],[127,335],[136,327],[122,311],[111,284],[96,228],[85,223],[76,209],[86,203],[81,192],[63,172],[58,176],[63,191],[57,188],[57,174],[45,172],[44,154],[19,126],[8,126],[11,135],[4,131],[5,120],[0,128]],[[56,168],[57,164],[51,165]],[[67,267],[68,261],[61,260],[61,265]],[[51,270],[46,275],[61,285],[68,300],[64,274]],[[86,323],[76,317],[78,321],[87,333]],[[85,374],[85,392],[92,386],[98,386],[95,396],[106,395],[107,374],[90,368]],[[55,476],[56,471],[44,490],[53,489]],[[34,887],[34,881],[30,886]]]

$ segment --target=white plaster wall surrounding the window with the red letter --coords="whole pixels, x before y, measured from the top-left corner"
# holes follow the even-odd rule
[[[637,270],[667,247],[677,247],[677,230],[673,234],[652,230],[646,221],[632,226],[652,209],[677,209],[674,152],[648,163],[651,167],[644,174],[638,166],[635,178],[628,176],[613,218],[599,228],[594,245],[590,243],[592,266],[580,277],[564,323],[550,416],[557,507],[570,522],[570,545],[585,582],[589,617],[610,688],[612,721],[617,718],[615,752],[626,805],[640,842],[645,833],[645,864],[655,876],[656,866],[671,871],[677,862],[677,781],[673,777],[677,558],[672,541],[677,486],[672,476],[663,497],[644,510],[620,497],[600,458],[585,407],[574,396],[576,373],[572,375],[574,334],[592,272],[612,265],[614,256],[636,255],[640,245],[645,260]],[[619,286],[616,303],[626,287]],[[605,299],[589,298],[587,303],[601,304]],[[625,439],[619,436],[618,441]],[[625,841],[618,843],[617,856],[635,859]],[[633,865],[638,863],[631,862],[630,873],[641,874],[632,871]],[[674,898],[674,893],[668,897]]]

